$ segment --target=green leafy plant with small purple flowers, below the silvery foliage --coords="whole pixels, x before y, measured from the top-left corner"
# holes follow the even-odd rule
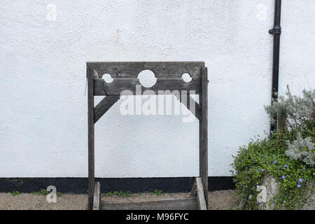
[[[248,146],[239,148],[232,164],[235,170],[231,172],[245,209],[258,209],[257,187],[262,185],[267,174],[279,183],[279,195],[274,198],[276,209],[299,208],[306,199],[305,192],[314,190],[315,169],[284,153],[287,149],[284,141],[293,141],[295,137],[295,131],[284,134],[277,131],[272,137],[251,141]]]

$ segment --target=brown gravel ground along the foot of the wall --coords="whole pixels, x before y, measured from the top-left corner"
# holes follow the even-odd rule
[[[209,193],[209,209],[226,210],[235,207],[233,197],[234,190],[221,190]],[[163,193],[160,196],[152,193],[131,194],[130,197],[102,196],[102,200],[111,201],[139,201],[154,200],[158,198],[182,197],[189,193]],[[56,203],[48,203],[45,195],[32,195],[21,193],[13,196],[10,193],[0,193],[0,210],[23,209],[23,210],[83,210],[87,209],[87,195],[62,194],[57,197]]]

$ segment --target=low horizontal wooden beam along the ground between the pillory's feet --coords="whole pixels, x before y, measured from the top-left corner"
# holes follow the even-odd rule
[[[143,202],[101,202],[102,210],[197,210],[196,197]]]

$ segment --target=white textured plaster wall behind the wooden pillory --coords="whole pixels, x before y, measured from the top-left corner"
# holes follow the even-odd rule
[[[230,176],[232,154],[269,128],[273,13],[271,0],[2,0],[0,177],[87,176],[85,62],[189,60],[209,68],[209,176]],[[283,1],[280,93],[314,88],[314,13]],[[119,108],[95,126],[96,176],[198,175],[197,120]]]

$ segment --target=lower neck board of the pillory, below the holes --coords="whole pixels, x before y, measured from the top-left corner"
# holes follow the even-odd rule
[[[158,94],[159,90],[193,90],[194,94],[201,93],[201,78],[193,78],[190,83],[186,83],[183,78],[158,78],[153,87],[143,87],[138,78],[114,78],[112,83],[106,83],[102,78],[94,79],[94,95],[95,96],[120,96],[120,94],[137,94],[136,85],[141,87],[139,94],[144,91],[152,91]],[[124,92],[128,90],[128,92]]]

